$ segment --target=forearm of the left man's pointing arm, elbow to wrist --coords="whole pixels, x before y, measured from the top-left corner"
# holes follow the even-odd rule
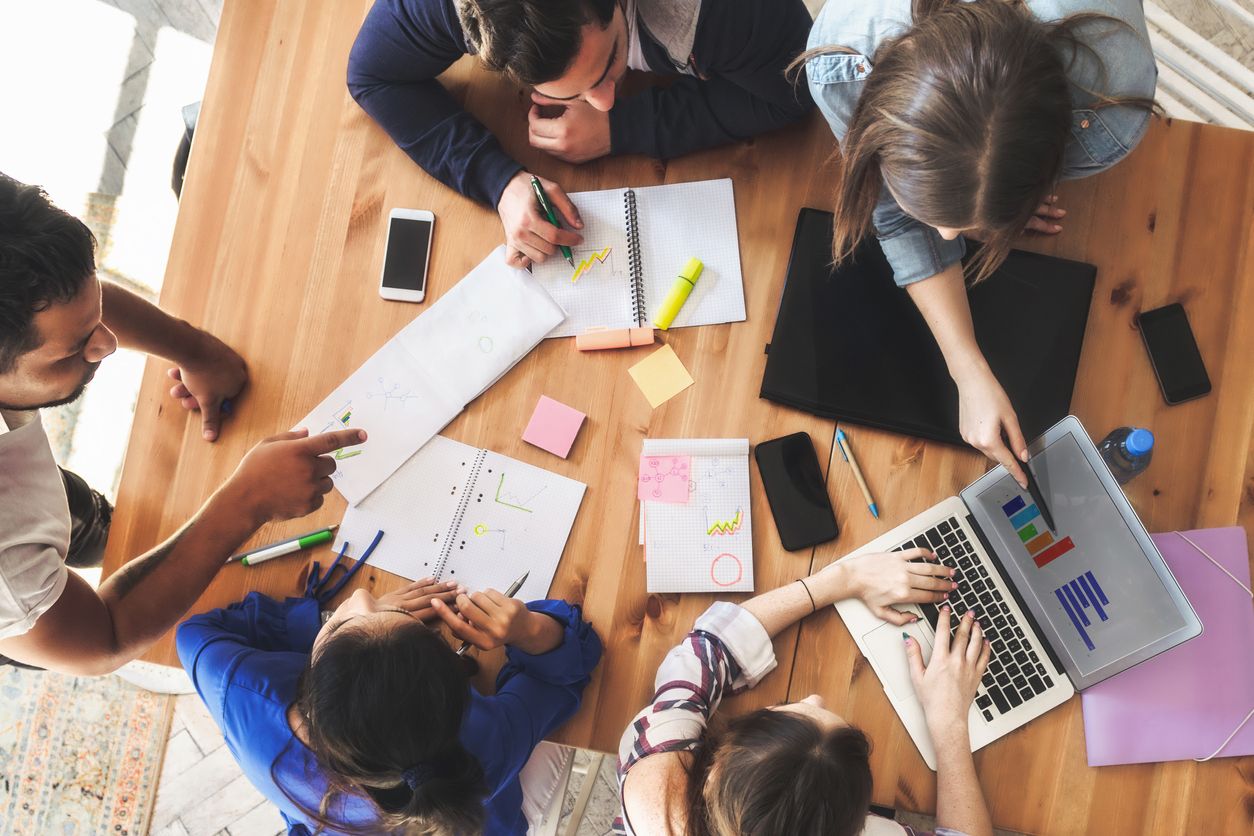
[[[135,658],[174,627],[258,525],[228,483],[178,533],[104,580],[98,594],[112,624],[109,663]]]

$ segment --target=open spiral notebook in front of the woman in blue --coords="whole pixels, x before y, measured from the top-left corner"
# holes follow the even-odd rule
[[[361,554],[384,539],[370,565],[410,580],[458,580],[504,590],[530,572],[522,598],[548,594],[583,483],[435,436],[362,503],[349,508],[335,549]]]

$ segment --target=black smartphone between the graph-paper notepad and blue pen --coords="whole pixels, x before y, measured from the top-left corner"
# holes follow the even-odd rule
[[[766,501],[789,551],[835,540],[840,534],[810,434],[794,432],[754,449]]]

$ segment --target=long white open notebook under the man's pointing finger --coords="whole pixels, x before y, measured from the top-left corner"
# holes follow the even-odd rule
[[[296,426],[366,431],[365,444],[336,451],[331,474],[344,498],[360,503],[562,318],[544,288],[507,266],[498,247]]]

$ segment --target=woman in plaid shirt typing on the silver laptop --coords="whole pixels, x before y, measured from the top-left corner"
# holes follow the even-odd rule
[[[939,603],[954,588],[951,569],[924,549],[867,554],[752,598],[716,603],[657,671],[653,702],[636,716],[618,747],[622,812],[617,836],[904,836],[868,815],[870,742],[811,694],[724,719],[725,694],[756,686],[775,668],[771,638],[843,598],[860,598],[894,624],[913,615],[894,603]],[[988,664],[988,643],[971,614],[952,647],[942,607],[935,647],[924,667],[905,639],[910,678],[937,752],[940,830],[991,836],[976,778],[967,713]],[[905,634],[903,633],[903,637]]]

